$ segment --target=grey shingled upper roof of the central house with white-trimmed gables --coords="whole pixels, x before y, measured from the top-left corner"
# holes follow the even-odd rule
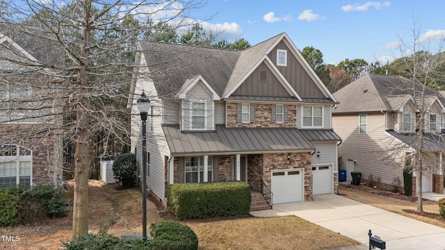
[[[291,49],[293,56],[307,71],[314,81],[314,89],[319,90],[323,98],[300,97],[296,90],[289,84],[279,69],[268,58],[268,53],[277,44],[284,41]],[[273,72],[278,80],[275,84],[281,84],[284,91],[289,93],[288,101],[323,102],[334,103],[336,100],[325,88],[314,71],[307,65],[298,49],[289,40],[286,33],[280,33],[273,38],[261,42],[244,51],[232,51],[227,49],[214,49],[209,47],[195,47],[181,44],[168,44],[163,42],[140,42],[140,53],[147,63],[149,77],[152,78],[156,88],[156,94],[163,97],[177,97],[191,84],[191,78],[201,76],[208,87],[220,98],[233,98],[232,94],[261,64],[265,64]],[[143,63],[141,64],[143,65]],[[134,84],[134,83],[133,83]],[[293,83],[295,84],[295,83]],[[216,96],[216,95],[214,95]],[[275,99],[276,97],[272,97]],[[242,97],[241,99],[244,99]],[[270,98],[269,98],[270,99]]]

